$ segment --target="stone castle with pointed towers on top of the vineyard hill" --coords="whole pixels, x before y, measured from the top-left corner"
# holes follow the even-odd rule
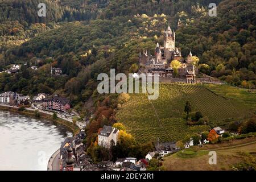
[[[187,59],[181,56],[181,49],[175,47],[175,31],[171,30],[168,25],[167,30],[164,30],[163,46],[156,43],[155,55],[151,55],[147,50],[139,53],[139,64],[144,67],[146,73],[158,73],[162,77],[172,77],[174,69],[170,63],[172,60],[180,61],[181,67],[177,68],[180,78],[184,78],[185,82],[196,83],[197,69],[192,64],[192,53],[189,52]]]

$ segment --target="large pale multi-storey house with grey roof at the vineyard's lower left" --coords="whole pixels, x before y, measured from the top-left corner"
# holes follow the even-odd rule
[[[114,141],[114,145],[117,144],[119,130],[112,126],[104,126],[98,134],[98,145],[109,148],[111,141]]]

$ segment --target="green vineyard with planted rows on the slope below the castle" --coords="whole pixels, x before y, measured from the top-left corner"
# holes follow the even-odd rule
[[[248,111],[242,104],[218,96],[201,85],[160,84],[159,98],[148,100],[146,94],[130,94],[116,117],[138,142],[159,138],[161,142],[184,139],[189,134],[208,131],[208,125],[188,126],[184,105],[190,101],[192,111],[201,111],[210,125],[225,125],[245,118]]]

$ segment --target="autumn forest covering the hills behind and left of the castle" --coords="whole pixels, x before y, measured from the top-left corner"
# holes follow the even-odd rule
[[[47,16],[38,17],[39,2]],[[0,7],[0,72],[20,64],[16,74],[0,73],[0,92],[28,95],[57,93],[90,116],[86,138],[96,140],[103,125],[116,122],[117,95],[98,95],[98,73],[138,69],[139,52],[154,53],[168,23],[176,32],[183,57],[199,57],[199,70],[235,86],[255,88],[256,2],[213,1],[217,16],[208,15],[212,1],[162,0],[3,0]],[[180,19],[180,27],[177,22]],[[27,63],[24,65],[24,63]],[[36,65],[38,70],[30,67]],[[63,76],[51,76],[59,67]]]

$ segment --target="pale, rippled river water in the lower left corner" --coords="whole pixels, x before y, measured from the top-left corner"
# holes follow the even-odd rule
[[[66,137],[72,133],[64,126],[0,110],[0,170],[47,170]]]

